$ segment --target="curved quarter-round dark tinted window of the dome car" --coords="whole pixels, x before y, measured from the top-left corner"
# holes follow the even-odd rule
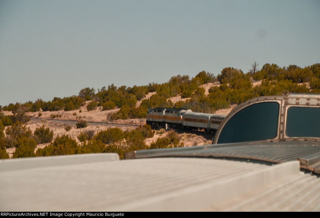
[[[221,131],[218,144],[259,141],[277,135],[279,104],[264,102],[236,113]]]

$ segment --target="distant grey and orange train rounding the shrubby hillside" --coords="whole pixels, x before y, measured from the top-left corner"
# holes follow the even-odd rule
[[[212,113],[195,113],[183,108],[152,107],[148,109],[146,120],[152,127],[204,130],[214,133],[225,117]]]

